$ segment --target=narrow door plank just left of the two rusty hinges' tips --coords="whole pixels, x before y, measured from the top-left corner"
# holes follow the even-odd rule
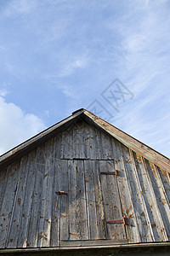
[[[99,239],[106,239],[107,230],[106,230],[106,224],[105,224],[104,201],[103,201],[100,175],[99,175],[99,161],[92,160],[91,166],[94,173],[94,192],[95,192],[95,205],[96,205]]]

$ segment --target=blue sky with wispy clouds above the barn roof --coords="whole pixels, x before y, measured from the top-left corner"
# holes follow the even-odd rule
[[[166,0],[0,0],[0,154],[88,108],[170,157],[169,13]]]

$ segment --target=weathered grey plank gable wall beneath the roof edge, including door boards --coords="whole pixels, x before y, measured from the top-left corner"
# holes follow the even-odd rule
[[[0,248],[169,241],[169,180],[79,121],[0,170]],[[128,224],[105,223],[123,214]]]

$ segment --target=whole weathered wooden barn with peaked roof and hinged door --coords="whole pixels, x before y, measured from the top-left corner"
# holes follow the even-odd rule
[[[170,160],[86,109],[0,157],[0,254],[170,252]]]

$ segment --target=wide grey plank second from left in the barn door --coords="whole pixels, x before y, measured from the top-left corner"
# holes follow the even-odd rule
[[[88,218],[82,161],[69,161],[68,170],[70,240],[86,240],[88,239]]]

